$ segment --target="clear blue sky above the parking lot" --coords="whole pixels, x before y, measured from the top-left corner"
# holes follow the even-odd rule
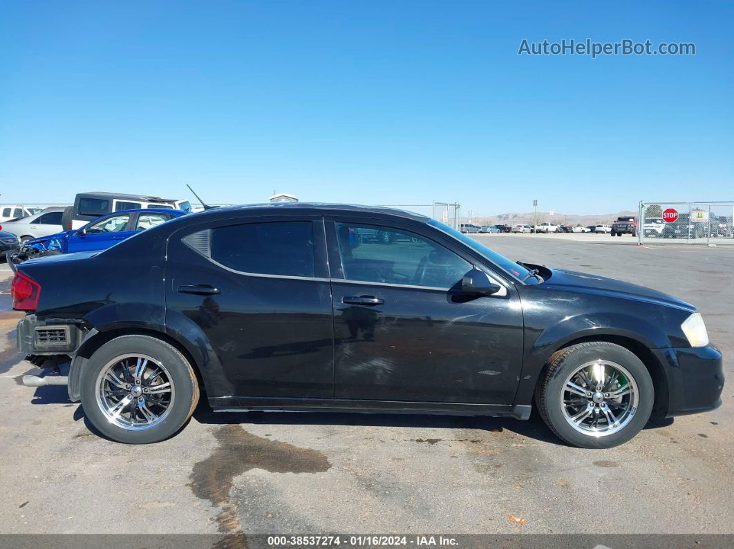
[[[0,202],[734,199],[732,2],[6,1]],[[518,56],[523,38],[695,56]]]

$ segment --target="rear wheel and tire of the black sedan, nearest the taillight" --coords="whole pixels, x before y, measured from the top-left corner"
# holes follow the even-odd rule
[[[102,377],[103,372],[107,372],[109,368],[112,368],[112,372],[120,376],[117,377],[118,381],[127,382],[128,379],[123,378],[120,373],[125,372],[126,368],[128,374],[134,372],[134,365],[141,364],[136,361],[135,357],[137,355],[150,358],[147,364],[153,364],[153,366],[147,366],[147,368],[143,366],[140,374],[141,380],[136,382],[133,380],[133,375],[131,375],[129,381],[137,383],[136,385],[126,383],[137,394],[134,395],[132,390],[128,390],[121,385],[117,386],[117,384],[109,383]],[[125,356],[129,358],[123,358],[123,361],[120,361],[120,357]],[[120,364],[123,364],[123,366],[120,366]],[[165,386],[164,380],[168,380],[170,390],[165,391],[163,388],[156,390],[155,392],[160,394],[160,397],[154,397],[153,394],[143,397],[137,390],[144,390],[142,387],[146,384],[145,376],[149,376],[148,382],[150,382],[150,376],[155,373],[151,370],[156,367],[163,368],[163,372],[161,372],[161,375],[153,377],[152,383],[158,381],[158,385]],[[124,395],[123,398],[129,399],[130,404],[120,407],[124,410],[124,413],[119,414],[116,419],[111,419],[111,416],[115,416],[114,408],[110,407],[108,399],[101,397],[100,386],[106,386],[111,390],[119,388],[120,390],[117,392]],[[148,385],[146,388],[150,392],[155,390],[156,385]],[[137,408],[136,399],[131,398],[133,395],[138,400],[142,398],[145,410],[158,417],[152,426],[145,423],[148,414]],[[117,401],[118,405],[123,401],[123,398]],[[169,404],[164,408],[155,403],[157,399],[169,399]],[[92,426],[102,435],[121,443],[148,444],[163,441],[175,435],[189,420],[198,401],[199,385],[189,361],[175,347],[155,337],[129,335],[112,339],[95,351],[81,372],[81,406],[84,408],[84,414]],[[137,420],[133,418],[134,425],[132,426],[124,427],[118,424],[117,422],[129,423],[131,421],[126,418],[126,415],[132,408],[135,409],[132,413],[138,416],[141,423],[135,423]],[[142,416],[145,416],[145,419]]]

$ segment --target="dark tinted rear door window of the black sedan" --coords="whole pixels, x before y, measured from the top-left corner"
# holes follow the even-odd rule
[[[310,221],[222,226],[183,241],[217,263],[244,273],[314,276]]]

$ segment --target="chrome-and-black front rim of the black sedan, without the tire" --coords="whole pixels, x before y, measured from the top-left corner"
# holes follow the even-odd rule
[[[632,421],[639,388],[628,369],[616,362],[587,362],[571,374],[561,395],[564,419],[578,432],[605,437]]]

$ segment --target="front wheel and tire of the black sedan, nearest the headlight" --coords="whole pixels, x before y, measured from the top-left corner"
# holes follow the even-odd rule
[[[617,371],[619,374],[617,385],[602,386],[601,391],[596,391],[596,388],[592,387],[594,391],[588,391],[586,395],[591,393],[596,399],[599,395],[601,395],[599,398],[602,398],[607,394],[613,394],[614,391],[623,390],[625,387],[631,388],[628,394],[619,397],[621,402],[615,402],[616,399],[613,398],[604,398],[599,403],[597,400],[578,396],[575,392],[567,390],[567,380],[579,379],[573,377],[574,372],[582,366],[595,372],[595,363],[598,361],[604,364],[603,376]],[[626,385],[622,384],[620,377],[629,377]],[[590,381],[595,380],[590,379]],[[607,381],[609,381],[608,378]],[[595,381],[595,383],[598,382]],[[622,389],[619,388],[620,386]],[[586,392],[588,387],[581,386],[579,383],[578,388]],[[559,350],[551,356],[542,373],[535,396],[540,416],[559,438],[580,448],[601,449],[619,446],[642,430],[653,410],[655,389],[650,372],[630,350],[614,343],[587,342]],[[625,404],[625,400],[626,409],[620,405]],[[578,402],[579,404],[569,406],[564,402]],[[577,422],[577,427],[573,427],[572,414],[579,417],[588,411],[589,406],[595,407],[594,412],[589,412],[590,415],[585,419],[581,417],[581,423]],[[612,423],[606,416],[607,412],[618,421]],[[593,424],[596,417],[600,418],[597,420],[597,430]]]

